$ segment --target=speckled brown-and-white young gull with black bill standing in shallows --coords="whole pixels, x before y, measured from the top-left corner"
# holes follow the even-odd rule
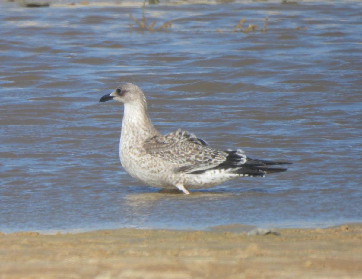
[[[119,159],[126,172],[142,184],[190,194],[187,189],[209,188],[240,176],[284,172],[286,168],[268,166],[291,164],[251,159],[241,149],[215,150],[181,129],[161,135],[148,116],[144,93],[132,83],[119,86],[99,102],[112,99],[124,105]]]

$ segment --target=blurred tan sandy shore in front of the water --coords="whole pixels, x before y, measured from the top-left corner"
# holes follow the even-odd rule
[[[1,234],[0,279],[361,278],[362,224],[277,231]]]

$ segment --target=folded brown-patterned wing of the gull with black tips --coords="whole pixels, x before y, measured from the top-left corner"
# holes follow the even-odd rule
[[[285,168],[270,168],[269,165],[290,164],[246,157],[243,151],[219,151],[195,135],[178,129],[176,132],[148,139],[143,148],[154,157],[173,164],[174,173],[203,174],[212,170],[237,173],[242,176],[264,176],[265,173],[283,172]]]

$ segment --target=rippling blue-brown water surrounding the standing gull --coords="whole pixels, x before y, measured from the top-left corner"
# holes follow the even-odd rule
[[[361,1],[161,2],[155,32],[130,27],[139,1],[0,3],[0,231],[361,222]],[[125,82],[160,132],[293,165],[188,196],[139,185],[123,108],[98,103]]]

